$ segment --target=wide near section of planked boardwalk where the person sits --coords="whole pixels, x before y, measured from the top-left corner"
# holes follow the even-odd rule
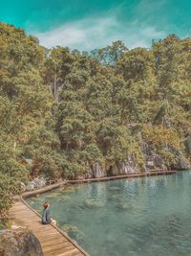
[[[39,240],[44,256],[83,256],[88,255],[57,227],[42,225],[39,215],[22,199],[15,201],[10,211],[11,221],[28,227]]]

